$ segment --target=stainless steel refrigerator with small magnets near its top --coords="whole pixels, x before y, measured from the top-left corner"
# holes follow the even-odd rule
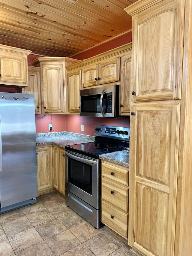
[[[0,92],[0,213],[37,196],[34,95]]]

